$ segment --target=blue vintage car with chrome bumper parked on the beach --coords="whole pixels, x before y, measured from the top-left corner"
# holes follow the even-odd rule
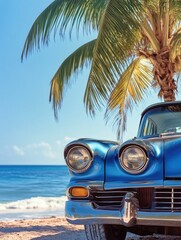
[[[66,218],[84,224],[88,240],[181,236],[181,102],[146,108],[137,137],[121,145],[73,141],[65,159]]]

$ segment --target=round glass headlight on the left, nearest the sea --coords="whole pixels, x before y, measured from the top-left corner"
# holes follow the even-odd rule
[[[66,156],[67,165],[76,173],[86,171],[92,162],[92,156],[89,150],[83,146],[70,148]]]

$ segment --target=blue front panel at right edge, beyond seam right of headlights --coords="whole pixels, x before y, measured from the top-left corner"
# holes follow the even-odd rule
[[[165,178],[181,179],[181,136],[164,139]]]

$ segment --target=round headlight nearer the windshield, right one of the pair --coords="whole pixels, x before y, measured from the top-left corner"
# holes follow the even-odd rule
[[[142,148],[129,146],[121,152],[119,161],[125,171],[137,174],[145,169],[148,158]]]

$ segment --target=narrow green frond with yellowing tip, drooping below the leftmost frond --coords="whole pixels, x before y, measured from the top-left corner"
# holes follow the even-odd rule
[[[64,92],[70,86],[70,77],[91,63],[95,43],[96,39],[82,45],[67,57],[51,80],[49,100],[52,101],[56,118],[58,109],[61,107]]]

